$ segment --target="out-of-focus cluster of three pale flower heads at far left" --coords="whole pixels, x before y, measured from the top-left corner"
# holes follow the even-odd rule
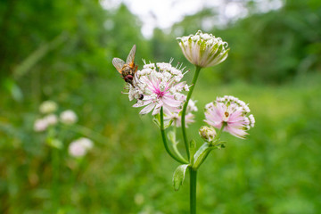
[[[40,104],[39,111],[42,114],[45,114],[43,118],[36,119],[34,123],[34,130],[37,132],[45,131],[48,127],[54,126],[58,123],[58,116],[54,114],[57,111],[58,105],[53,101],[45,101],[44,103]],[[74,111],[67,110],[62,111],[59,116],[59,120],[63,124],[74,124],[77,122],[78,117]]]

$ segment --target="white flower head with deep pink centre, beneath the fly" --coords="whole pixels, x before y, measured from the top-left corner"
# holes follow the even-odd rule
[[[188,90],[185,82],[180,82],[184,77],[184,69],[173,67],[170,62],[145,64],[143,70],[138,70],[133,86],[129,87],[129,100],[136,99],[133,107],[143,107],[140,114],[152,111],[156,115],[161,111],[165,114],[178,112],[185,102],[182,91]]]

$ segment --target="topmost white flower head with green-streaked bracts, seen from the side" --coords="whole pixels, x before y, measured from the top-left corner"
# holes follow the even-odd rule
[[[202,33],[198,30],[195,35],[177,37],[185,58],[201,68],[214,66],[227,58],[228,44],[220,37]]]

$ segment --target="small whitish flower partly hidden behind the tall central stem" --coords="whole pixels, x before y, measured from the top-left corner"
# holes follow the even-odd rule
[[[193,100],[189,100],[188,104],[187,104],[187,109],[186,109],[186,113],[185,113],[185,127],[188,127],[188,124],[191,124],[194,122],[194,115],[193,115],[193,111],[198,111],[195,102]],[[182,126],[182,116],[181,116],[181,111],[177,112],[173,112],[169,115],[166,115],[165,119],[171,119],[173,120],[172,125],[178,127]]]

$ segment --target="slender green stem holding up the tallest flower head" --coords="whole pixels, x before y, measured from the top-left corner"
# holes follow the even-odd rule
[[[188,105],[188,101],[190,100],[192,93],[193,93],[193,88],[196,84],[197,78],[200,74],[200,70],[202,68],[196,66],[196,70],[193,76],[193,80],[192,80],[192,86],[190,86],[189,88],[189,92],[187,94],[186,97],[186,102],[184,104],[183,107],[183,111],[182,111],[182,132],[183,132],[183,138],[184,138],[184,144],[185,144],[185,149],[186,149],[186,154],[187,154],[187,159],[190,160],[190,153],[189,153],[189,144],[188,144],[188,140],[187,140],[187,136],[186,136],[186,128],[185,128],[185,114],[186,114],[186,109],[187,109],[187,105]]]

